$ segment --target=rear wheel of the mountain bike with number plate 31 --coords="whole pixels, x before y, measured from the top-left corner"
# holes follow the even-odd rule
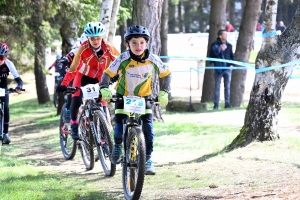
[[[78,140],[78,149],[81,154],[82,161],[87,170],[92,170],[95,165],[93,136],[90,127],[84,117],[79,120],[78,134],[81,140]]]

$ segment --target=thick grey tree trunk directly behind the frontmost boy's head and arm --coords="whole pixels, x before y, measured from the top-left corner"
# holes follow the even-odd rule
[[[139,24],[147,27],[150,32],[151,39],[149,41],[149,50],[160,55],[160,20],[162,14],[163,0],[134,0],[132,10],[133,24]],[[153,76],[152,95],[157,96],[159,93],[158,76]],[[161,121],[160,106],[153,106],[153,119]]]

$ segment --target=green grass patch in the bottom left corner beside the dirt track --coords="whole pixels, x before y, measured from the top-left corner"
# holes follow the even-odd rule
[[[6,176],[2,181],[5,182],[2,197],[10,194],[17,196],[22,193],[22,196],[27,199],[117,199],[112,197],[111,192],[95,191],[93,188],[85,188],[90,184],[90,180],[86,180],[84,176],[69,177],[69,174],[54,174],[47,172],[35,172],[34,175],[13,175],[11,173]],[[24,181],[26,184],[23,184]],[[103,182],[103,184],[105,184]],[[34,187],[32,187],[34,185]],[[101,187],[101,185],[99,185]],[[1,191],[1,189],[0,189]],[[33,195],[35,191],[35,195]],[[117,193],[121,195],[120,193]]]

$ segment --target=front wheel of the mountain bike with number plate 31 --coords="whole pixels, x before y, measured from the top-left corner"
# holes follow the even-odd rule
[[[116,165],[110,161],[110,155],[113,148],[110,130],[107,120],[101,111],[94,113],[94,124],[96,127],[96,146],[103,171],[107,176],[114,176]]]

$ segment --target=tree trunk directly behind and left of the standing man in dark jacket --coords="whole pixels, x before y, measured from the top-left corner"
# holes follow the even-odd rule
[[[225,29],[226,26],[226,4],[227,0],[218,0],[211,1],[211,11],[210,11],[210,19],[209,19],[209,38],[207,45],[207,57],[209,57],[209,51],[211,44],[217,38],[217,32],[220,29]],[[206,66],[210,66],[210,62],[206,62]],[[214,78],[214,70],[205,70],[204,80],[203,80],[203,89],[202,89],[202,97],[201,102],[205,103],[208,101],[213,101],[214,99],[214,86],[215,78]]]

